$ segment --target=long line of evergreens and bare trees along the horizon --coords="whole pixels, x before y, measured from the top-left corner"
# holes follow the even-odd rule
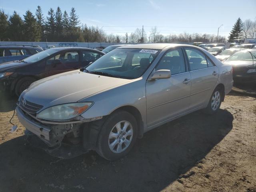
[[[256,20],[242,20],[233,26],[228,40],[235,38],[256,38]],[[42,8],[37,7],[35,14],[27,10],[23,18],[14,11],[8,15],[0,10],[0,41],[42,41],[42,42],[110,42],[110,43],[173,43],[173,42],[226,42],[225,36],[214,34],[180,33],[163,35],[157,27],[153,27],[148,33],[142,28],[124,36],[106,34],[97,26],[81,24],[74,7],[68,13],[62,12],[60,7],[54,11],[52,8],[44,16]]]

